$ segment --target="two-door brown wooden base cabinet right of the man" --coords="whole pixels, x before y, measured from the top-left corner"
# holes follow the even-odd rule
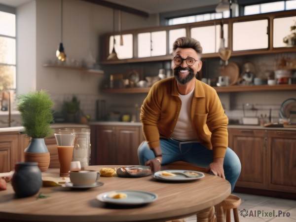
[[[236,186],[296,193],[296,131],[228,129],[242,170]]]

